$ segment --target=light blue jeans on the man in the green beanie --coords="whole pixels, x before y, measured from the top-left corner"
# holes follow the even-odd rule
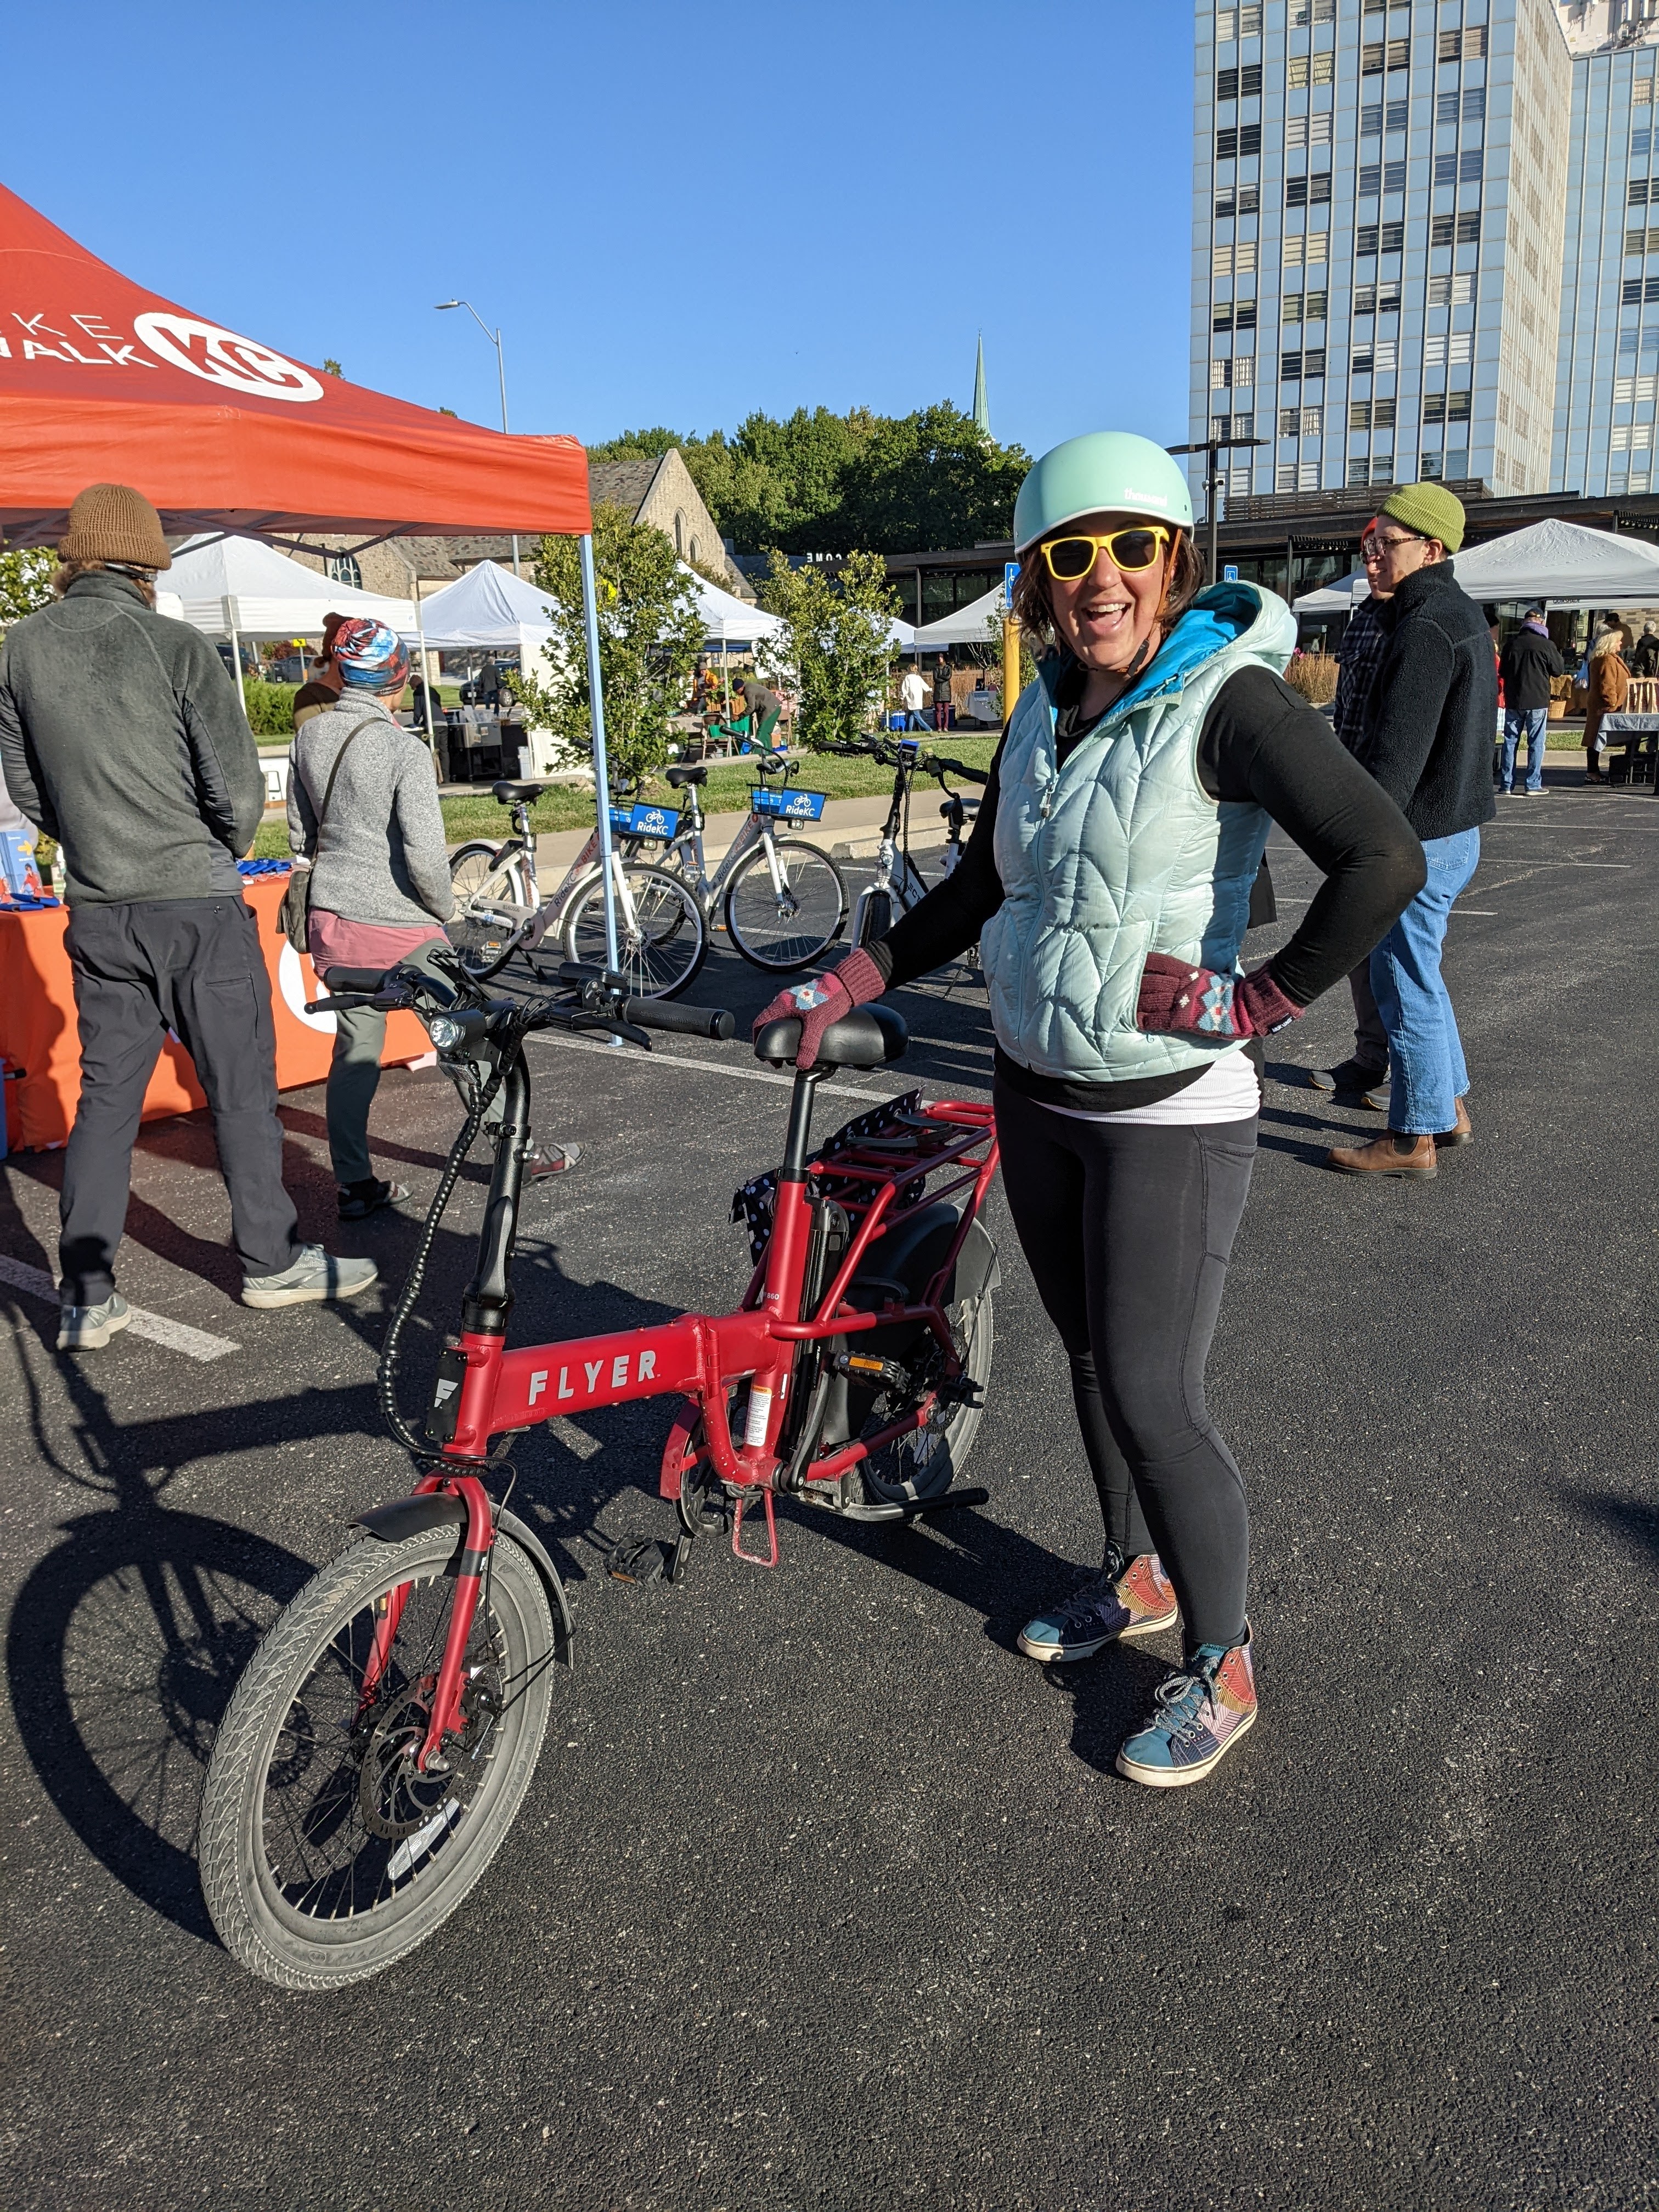
[[[1371,991],[1389,1033],[1389,1128],[1438,1137],[1458,1121],[1469,1068],[1440,975],[1447,916],[1480,860],[1480,830],[1425,838],[1429,880],[1371,953]]]

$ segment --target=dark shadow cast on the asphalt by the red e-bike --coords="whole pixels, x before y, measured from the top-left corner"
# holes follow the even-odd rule
[[[0,1248],[44,1265],[46,1254],[7,1199],[0,1181]],[[469,1232],[440,1232],[438,1248],[431,1310],[447,1325],[476,1248]],[[619,1285],[573,1281],[551,1245],[520,1254],[515,1283],[520,1318],[533,1334],[593,1334],[670,1316]],[[60,1542],[29,1571],[11,1608],[7,1681],[18,1741],[93,1858],[164,1920],[217,1942],[195,1863],[212,1741],[261,1635],[316,1562],[252,1528],[164,1502],[184,1469],[248,1451],[248,1405],[122,1422],[84,1363],[55,1358],[49,1305],[0,1285],[0,1316],[38,1345],[18,1360],[35,1455],[97,1500],[60,1524]],[[436,1323],[411,1332],[403,1398],[405,1418],[416,1422],[438,1334]],[[49,1405],[44,1376],[69,1398],[73,1449],[62,1442],[62,1409]],[[564,1436],[542,1429],[520,1440],[513,1506],[538,1526],[566,1582],[586,1579],[602,1559],[613,1540],[606,1515],[641,1467],[655,1489],[672,1411],[670,1400],[646,1400],[566,1422]],[[338,1449],[365,1433],[380,1433],[369,1380],[257,1405],[261,1453]],[[354,1513],[411,1486],[414,1469],[387,1447],[378,1464],[365,1467],[361,1495],[343,1500],[341,1540]],[[500,1493],[502,1484],[491,1486]]]

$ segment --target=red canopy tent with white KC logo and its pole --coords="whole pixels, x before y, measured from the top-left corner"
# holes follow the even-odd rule
[[[53,544],[86,484],[135,484],[168,535],[447,531],[582,540],[606,936],[615,967],[588,458],[338,376],[146,292],[0,186],[0,533]]]

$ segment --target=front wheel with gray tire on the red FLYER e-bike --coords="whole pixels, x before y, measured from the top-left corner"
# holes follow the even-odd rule
[[[201,1891],[230,1955],[279,1989],[341,1989],[414,1951],[471,1893],[524,1803],[553,1703],[555,1635],[542,1577],[507,1535],[491,1551],[489,1604],[478,1597],[473,1710],[449,1776],[411,1781],[394,1750],[420,1725],[458,1559],[453,1526],[352,1544],[272,1621],[226,1708],[197,1829]],[[400,1584],[409,1599],[385,1688],[363,1708],[354,1655],[367,1652],[376,1599]],[[394,1732],[403,1712],[416,1719]],[[378,1812],[383,1829],[372,1832],[369,1798],[374,1809],[414,1807],[420,1825],[394,1827]]]

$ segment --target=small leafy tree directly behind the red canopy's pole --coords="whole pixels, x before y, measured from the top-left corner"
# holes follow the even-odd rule
[[[668,759],[668,717],[690,688],[703,619],[672,544],[622,507],[593,509],[593,566],[606,752],[615,776],[644,776]],[[549,597],[553,637],[542,668],[522,670],[515,690],[566,759],[591,759],[582,566],[573,538],[542,540],[535,582]]]

